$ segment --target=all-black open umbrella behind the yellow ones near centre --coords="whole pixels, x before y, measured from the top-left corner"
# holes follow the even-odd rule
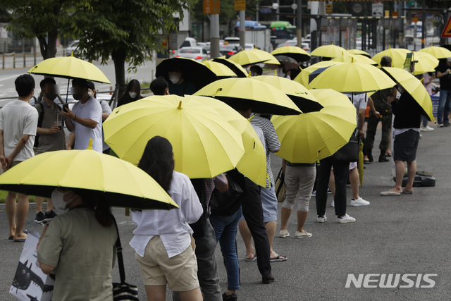
[[[156,66],[156,77],[163,76],[169,82],[169,70],[180,69],[182,77],[194,83],[197,90],[218,79],[216,74],[203,63],[194,59],[166,59]]]

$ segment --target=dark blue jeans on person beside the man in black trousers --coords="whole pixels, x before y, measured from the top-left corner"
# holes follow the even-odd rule
[[[213,223],[216,233],[216,243],[219,241],[221,252],[226,261],[227,289],[240,289],[240,266],[236,247],[237,226],[241,217],[241,207],[232,216],[218,216],[211,214],[210,221]]]

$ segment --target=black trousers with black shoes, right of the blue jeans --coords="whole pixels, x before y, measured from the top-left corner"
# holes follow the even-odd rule
[[[242,214],[245,216],[247,226],[254,238],[255,254],[257,255],[257,266],[261,276],[271,274],[269,257],[268,234],[266,234],[263,221],[263,209],[261,208],[260,188],[257,184],[244,178],[245,191],[241,197]],[[327,190],[327,188],[326,188]]]

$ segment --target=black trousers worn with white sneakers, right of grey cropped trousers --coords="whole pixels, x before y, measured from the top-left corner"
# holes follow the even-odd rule
[[[327,188],[329,185],[330,168],[333,166],[335,178],[335,214],[346,214],[346,182],[350,175],[350,163],[337,161],[329,156],[322,159],[318,166],[318,183],[316,184],[316,214],[326,214]]]

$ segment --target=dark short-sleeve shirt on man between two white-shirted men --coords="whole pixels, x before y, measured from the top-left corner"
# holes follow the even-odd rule
[[[51,128],[59,118],[61,126],[64,126],[63,113],[58,108],[57,104],[49,105],[45,100],[35,105],[38,113],[38,121],[41,118],[41,106],[44,106],[44,117],[42,118],[42,125],[39,128]],[[56,150],[66,149],[66,140],[64,139],[64,130],[58,133],[39,135],[39,145],[37,145],[37,154],[43,152],[52,152]]]

